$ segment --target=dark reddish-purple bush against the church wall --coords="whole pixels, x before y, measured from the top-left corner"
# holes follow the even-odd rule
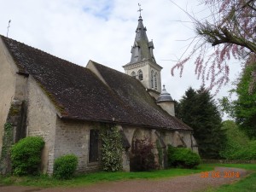
[[[154,170],[153,145],[145,140],[136,140],[131,156],[131,171],[143,172]]]

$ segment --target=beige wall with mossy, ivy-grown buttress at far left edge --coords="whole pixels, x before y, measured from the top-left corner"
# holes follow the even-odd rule
[[[10,147],[26,137],[26,81],[0,38],[0,154],[1,173],[11,172]],[[4,129],[4,125],[5,129]],[[9,128],[8,128],[9,127]],[[11,137],[10,137],[11,136]]]

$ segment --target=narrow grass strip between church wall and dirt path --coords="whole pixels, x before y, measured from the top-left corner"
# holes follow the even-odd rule
[[[71,180],[57,180],[48,176],[37,177],[1,177],[0,185],[26,185],[37,187],[76,187],[90,185],[99,182],[119,181],[128,179],[159,179],[165,177],[184,176],[204,171],[211,171],[214,165],[202,164],[196,169],[177,169],[159,170],[154,172],[96,172],[79,175]]]

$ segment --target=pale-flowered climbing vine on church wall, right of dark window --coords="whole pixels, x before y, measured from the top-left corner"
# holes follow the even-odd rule
[[[100,139],[102,142],[102,169],[106,172],[121,170],[123,144],[116,125],[102,125]]]

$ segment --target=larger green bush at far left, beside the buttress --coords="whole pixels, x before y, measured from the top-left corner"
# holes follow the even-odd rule
[[[15,143],[11,148],[11,162],[15,175],[38,174],[43,148],[42,137],[25,137]]]

